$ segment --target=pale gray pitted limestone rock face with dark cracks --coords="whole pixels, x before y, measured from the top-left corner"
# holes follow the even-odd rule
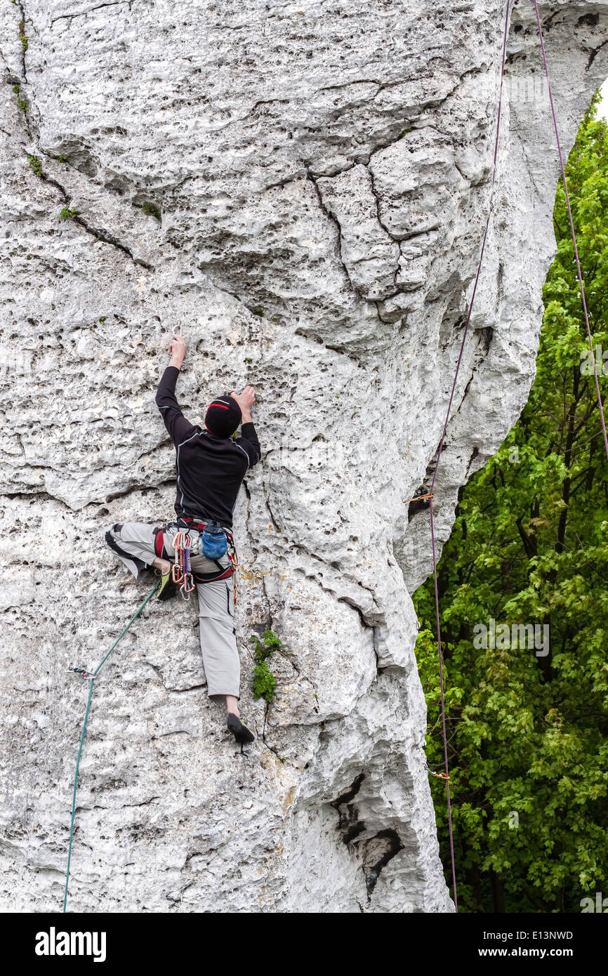
[[[608,75],[603,2],[542,4],[568,149]],[[17,0],[0,7],[2,907],[61,908],[87,683],[152,586],[103,543],[169,521],[154,406],[173,330],[200,422],[253,383],[236,510],[241,752],[195,607],[153,601],[96,682],[68,908],[451,912],[410,592],[490,192],[505,6]],[[603,46],[602,45],[606,45]],[[515,0],[486,262],[436,482],[531,385],[557,160]],[[60,220],[60,217],[63,220]],[[252,698],[250,636],[278,687]],[[458,797],[455,797],[458,802]]]

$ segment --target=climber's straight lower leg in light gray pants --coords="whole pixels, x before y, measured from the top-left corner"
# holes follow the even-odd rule
[[[198,570],[198,566],[196,569]],[[232,706],[228,711],[236,714],[240,689],[240,661],[232,619],[232,580],[197,583],[196,590],[207,694],[216,700],[225,699],[226,704],[230,703]],[[234,708],[235,704],[236,708]]]

